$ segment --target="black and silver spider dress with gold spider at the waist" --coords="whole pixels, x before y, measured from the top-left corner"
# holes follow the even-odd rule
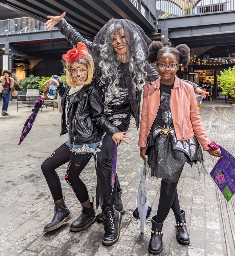
[[[182,141],[176,139],[170,109],[169,92],[172,88],[173,85],[160,84],[160,107],[146,146],[151,176],[163,178],[167,183],[179,180],[185,163],[193,166],[193,163],[203,160],[202,149],[195,135],[185,141],[186,148]]]

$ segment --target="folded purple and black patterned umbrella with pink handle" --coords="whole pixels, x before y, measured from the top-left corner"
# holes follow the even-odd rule
[[[48,91],[48,87],[46,88],[46,90],[44,91],[43,95],[39,98],[39,100],[36,100],[34,102],[34,108],[32,109],[33,113],[28,117],[28,119],[25,121],[24,123],[24,127],[20,136],[20,141],[19,144],[21,144],[21,142],[24,140],[24,138],[26,137],[26,135],[29,133],[29,131],[31,130],[32,126],[33,126],[33,122],[37,116],[37,113],[39,111],[39,109],[42,107],[42,104],[45,100],[45,95]]]

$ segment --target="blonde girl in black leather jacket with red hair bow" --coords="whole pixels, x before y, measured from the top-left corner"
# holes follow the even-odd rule
[[[54,200],[54,216],[51,223],[44,227],[44,232],[59,228],[73,216],[64,202],[60,178],[56,169],[69,162],[65,180],[71,186],[82,205],[80,216],[70,225],[70,231],[85,230],[96,221],[93,205],[94,197],[89,199],[86,185],[80,179],[80,173],[95,152],[103,129],[117,144],[125,141],[126,132],[120,132],[108,121],[103,112],[102,94],[92,82],[94,62],[84,43],[62,55],[66,66],[67,85],[59,79],[57,91],[61,96],[61,135],[68,133],[69,139],[52,152],[41,168]],[[48,80],[45,84],[51,81]],[[129,137],[127,137],[129,138]]]

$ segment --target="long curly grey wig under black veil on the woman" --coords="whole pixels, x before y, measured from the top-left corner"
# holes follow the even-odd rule
[[[107,24],[101,28],[93,41],[102,45],[100,54],[95,60],[100,73],[100,83],[108,85],[110,96],[112,94],[119,96],[120,59],[113,48],[111,33],[118,32],[123,28],[128,43],[127,62],[129,63],[128,72],[132,76],[132,89],[135,91],[142,90],[147,76],[145,71],[146,52],[151,40],[137,24],[129,20],[111,19]]]

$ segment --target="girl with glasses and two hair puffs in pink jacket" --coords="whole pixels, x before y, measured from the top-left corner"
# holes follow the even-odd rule
[[[211,142],[202,125],[192,85],[175,76],[180,65],[189,63],[190,49],[186,44],[163,47],[154,41],[149,46],[148,61],[156,62],[160,78],[144,89],[140,121],[140,156],[151,168],[151,176],[162,178],[157,214],[152,218],[148,250],[162,250],[162,227],[172,208],[175,215],[176,239],[190,242],[185,213],[180,209],[177,184],[185,163],[191,166],[203,160],[203,150],[221,156],[219,145]]]

